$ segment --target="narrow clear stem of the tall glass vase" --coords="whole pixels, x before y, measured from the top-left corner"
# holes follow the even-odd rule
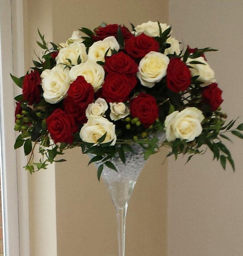
[[[116,206],[117,225],[118,225],[118,249],[119,256],[125,256],[125,225],[126,225],[126,212],[128,203],[124,206]]]

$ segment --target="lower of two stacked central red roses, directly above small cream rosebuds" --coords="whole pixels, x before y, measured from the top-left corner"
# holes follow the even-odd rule
[[[102,86],[102,95],[108,102],[123,102],[137,83],[136,77],[108,74]]]

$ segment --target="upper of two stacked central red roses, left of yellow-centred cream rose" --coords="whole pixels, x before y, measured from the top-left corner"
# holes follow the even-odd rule
[[[128,76],[135,76],[138,72],[138,64],[123,51],[106,57],[105,71],[108,73],[119,73]]]

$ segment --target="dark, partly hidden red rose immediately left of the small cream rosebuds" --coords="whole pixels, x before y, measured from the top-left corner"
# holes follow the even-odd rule
[[[87,109],[86,103],[77,103],[71,97],[67,97],[63,101],[64,112],[66,114],[71,114],[77,125],[81,125],[87,122],[87,117],[85,115],[85,110]]]

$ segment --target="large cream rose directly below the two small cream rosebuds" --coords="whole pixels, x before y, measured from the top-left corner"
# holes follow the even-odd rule
[[[102,143],[113,140],[111,146],[114,146],[117,140],[115,128],[115,124],[111,123],[106,118],[91,115],[88,118],[88,122],[80,130],[80,138],[88,143],[97,143],[98,139],[107,133]]]

